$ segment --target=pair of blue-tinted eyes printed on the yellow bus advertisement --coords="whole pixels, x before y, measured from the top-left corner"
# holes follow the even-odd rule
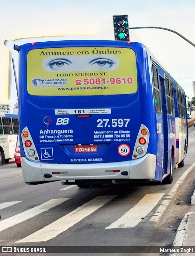
[[[114,55],[104,55],[103,57],[90,56],[69,56],[44,58],[42,62],[44,70],[48,72],[56,71],[93,71],[93,70],[115,70],[119,66],[119,58]]]

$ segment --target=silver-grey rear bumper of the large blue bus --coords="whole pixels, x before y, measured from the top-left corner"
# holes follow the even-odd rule
[[[48,164],[36,163],[21,157],[24,182],[50,182],[57,180],[77,179],[154,179],[156,170],[156,156],[146,154],[144,157],[112,163],[100,164]],[[112,170],[120,170],[113,172]],[[122,175],[122,172],[128,175]],[[52,174],[60,172],[60,174]],[[51,175],[45,178],[44,175]]]

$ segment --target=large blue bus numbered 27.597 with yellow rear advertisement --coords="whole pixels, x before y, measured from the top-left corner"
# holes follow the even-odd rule
[[[186,96],[146,46],[70,40],[14,49],[25,183],[172,183],[187,153]]]

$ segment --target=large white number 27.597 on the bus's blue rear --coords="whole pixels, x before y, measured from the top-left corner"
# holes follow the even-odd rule
[[[127,127],[128,122],[129,122],[129,118],[119,118],[119,119],[98,119],[98,125],[97,127]]]

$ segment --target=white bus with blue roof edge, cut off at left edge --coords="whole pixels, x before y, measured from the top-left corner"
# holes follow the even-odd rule
[[[18,134],[18,115],[0,113],[0,165],[14,158]]]

